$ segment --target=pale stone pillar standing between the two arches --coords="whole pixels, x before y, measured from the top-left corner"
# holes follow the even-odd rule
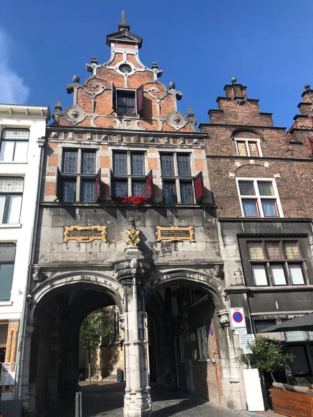
[[[150,386],[147,375],[147,341],[145,340],[145,302],[143,282],[151,260],[138,247],[127,246],[115,263],[118,281],[124,287],[126,389],[125,417],[151,416]]]

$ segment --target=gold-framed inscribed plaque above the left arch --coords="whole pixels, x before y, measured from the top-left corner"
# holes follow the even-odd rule
[[[65,226],[63,242],[77,240],[81,243],[89,243],[93,240],[106,242],[106,226]]]

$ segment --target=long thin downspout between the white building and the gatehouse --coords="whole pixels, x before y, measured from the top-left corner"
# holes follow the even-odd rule
[[[43,149],[45,147],[46,138],[38,138],[37,143],[40,147],[40,158],[39,158],[39,165],[38,165],[38,188],[37,188],[37,195],[35,200],[35,211],[33,215],[33,227],[31,231],[31,247],[29,249],[29,265],[28,265],[28,276],[26,279],[26,285],[24,290],[24,302],[23,302],[23,309],[22,309],[22,318],[21,318],[21,327],[19,331],[19,341],[17,345],[17,359],[16,359],[16,378],[15,378],[15,390],[13,398],[18,400],[21,398],[21,391],[22,391],[22,371],[23,366],[22,363],[24,361],[24,341],[25,341],[25,333],[26,333],[26,310],[27,310],[27,294],[29,291],[29,285],[31,283],[31,265],[33,264],[33,257],[35,255],[35,240],[37,237],[37,224],[38,224],[38,212],[39,212],[39,201],[40,201],[40,192],[41,192],[41,183],[42,183],[42,163],[43,163],[43,156],[44,152]]]

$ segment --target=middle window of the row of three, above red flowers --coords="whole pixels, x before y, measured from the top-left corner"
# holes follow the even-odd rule
[[[145,196],[152,198],[152,171],[145,175],[143,152],[114,152],[111,198]]]

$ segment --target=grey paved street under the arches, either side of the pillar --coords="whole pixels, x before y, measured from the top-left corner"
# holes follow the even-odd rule
[[[122,417],[124,384],[81,384],[83,417]],[[240,413],[177,391],[151,391],[153,417],[235,417]]]

